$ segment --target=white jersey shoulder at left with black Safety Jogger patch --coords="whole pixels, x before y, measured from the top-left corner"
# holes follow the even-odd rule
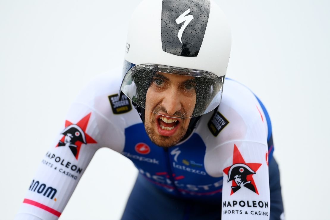
[[[126,96],[118,100],[121,81],[121,68],[97,75],[82,90],[70,110],[71,115],[77,115],[83,109],[91,112],[93,131],[100,145],[119,152],[124,144],[125,128],[141,122]]]

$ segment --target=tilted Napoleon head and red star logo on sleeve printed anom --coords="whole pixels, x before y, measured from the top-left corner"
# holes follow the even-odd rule
[[[78,121],[77,124],[65,120],[65,129],[61,132],[63,137],[56,145],[56,147],[69,147],[77,160],[82,144],[97,143],[85,132],[90,115],[91,112]]]

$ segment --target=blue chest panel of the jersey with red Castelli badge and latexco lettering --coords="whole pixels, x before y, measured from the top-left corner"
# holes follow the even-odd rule
[[[159,147],[150,141],[143,123],[139,123],[125,129],[122,154],[133,161],[145,178],[166,192],[183,198],[220,201],[223,177],[206,173],[205,150],[205,143],[196,133],[176,146]]]

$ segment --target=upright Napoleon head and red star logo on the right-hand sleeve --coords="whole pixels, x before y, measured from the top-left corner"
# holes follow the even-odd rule
[[[228,182],[232,181],[230,195],[242,187],[248,188],[259,195],[252,175],[257,172],[260,166],[261,164],[258,163],[245,163],[241,152],[238,150],[236,144],[234,144],[233,165],[223,170],[228,176]]]

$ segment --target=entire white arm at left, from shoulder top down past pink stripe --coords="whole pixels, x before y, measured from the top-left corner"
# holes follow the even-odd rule
[[[100,147],[122,150],[123,129],[116,124],[124,123],[113,117],[108,97],[117,92],[120,73],[121,69],[114,69],[98,75],[76,98],[27,186],[17,219],[24,218],[22,213],[43,220],[58,219],[95,152]]]

